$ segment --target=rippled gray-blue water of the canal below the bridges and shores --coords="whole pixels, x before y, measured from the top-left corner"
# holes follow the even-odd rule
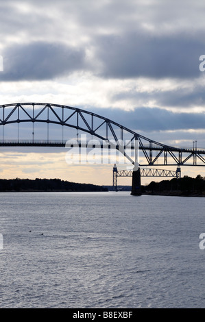
[[[0,201],[1,308],[205,307],[205,198],[1,193]]]

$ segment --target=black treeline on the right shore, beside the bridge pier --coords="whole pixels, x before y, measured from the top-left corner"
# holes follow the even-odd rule
[[[205,196],[205,177],[189,177],[184,175],[182,178],[173,178],[171,180],[162,180],[161,182],[150,182],[143,186],[144,193],[171,195],[204,195]]]

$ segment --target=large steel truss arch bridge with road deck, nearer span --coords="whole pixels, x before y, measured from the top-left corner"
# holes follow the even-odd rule
[[[19,127],[21,123],[31,123],[32,138],[20,139]],[[15,138],[4,137],[6,125],[17,123],[18,131]],[[47,138],[45,140],[34,139],[35,123],[47,123]],[[3,125],[0,146],[56,146],[64,147],[63,137],[61,140],[49,139],[49,125],[56,124],[63,127],[71,127],[77,131],[86,132],[101,140],[99,147],[104,148],[106,141],[108,149],[115,148],[121,151],[132,164],[136,162],[126,153],[126,149],[138,149],[144,157],[145,163],[140,166],[204,166],[205,149],[185,149],[171,147],[146,138],[132,129],[128,129],[104,116],[100,116],[87,110],[73,108],[52,103],[12,103],[0,106],[0,125]],[[1,128],[1,126],[0,126]],[[80,141],[77,141],[81,145]],[[155,154],[155,156],[154,156]],[[171,160],[171,161],[170,161]]]

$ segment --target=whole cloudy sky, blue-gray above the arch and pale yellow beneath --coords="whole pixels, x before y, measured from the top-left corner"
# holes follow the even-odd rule
[[[203,0],[0,0],[0,104],[64,104],[205,147],[204,14]],[[112,184],[112,166],[69,166],[64,154],[3,149],[1,177]]]

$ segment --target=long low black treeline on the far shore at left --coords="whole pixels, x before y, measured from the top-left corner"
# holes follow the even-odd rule
[[[9,191],[107,191],[95,184],[77,184],[61,179],[0,179],[0,192]]]

